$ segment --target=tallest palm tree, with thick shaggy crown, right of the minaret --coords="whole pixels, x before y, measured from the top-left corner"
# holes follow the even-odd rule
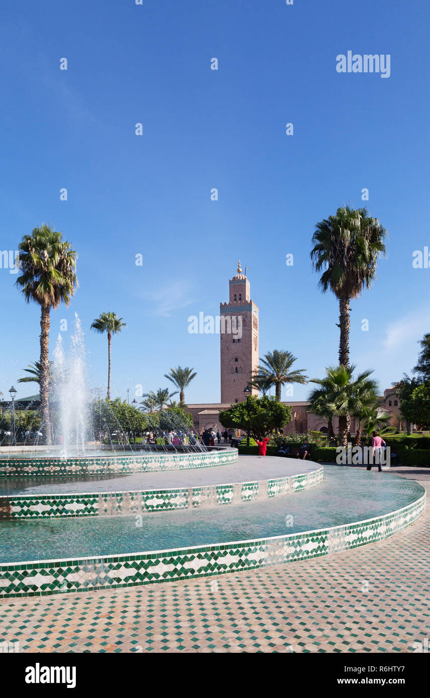
[[[323,270],[318,286],[339,300],[339,364],[349,366],[350,300],[376,280],[376,263],[385,255],[387,231],[365,208],[339,208],[335,216],[316,224],[311,260]]]

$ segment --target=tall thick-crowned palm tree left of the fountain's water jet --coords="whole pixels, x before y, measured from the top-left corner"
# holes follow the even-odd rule
[[[19,244],[19,268],[17,286],[29,303],[40,305],[40,410],[43,442],[51,443],[49,411],[49,341],[50,311],[61,302],[66,306],[77,287],[77,255],[70,244],[63,240],[61,232],[49,225],[34,228],[31,235],[24,235]]]

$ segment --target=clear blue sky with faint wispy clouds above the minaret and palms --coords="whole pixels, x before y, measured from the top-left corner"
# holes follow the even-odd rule
[[[70,329],[78,313],[89,330],[112,310],[128,325],[113,340],[112,396],[165,387],[180,364],[198,372],[186,400],[216,402],[219,336],[188,334],[188,316],[218,314],[240,258],[260,355],[290,350],[321,376],[337,361],[339,311],[317,288],[311,237],[368,188],[388,254],[352,304],[351,360],[382,388],[410,371],[430,331],[430,269],[412,266],[430,243],[428,3],[4,0],[2,15],[0,249],[45,222],[79,254],[52,350],[62,318]],[[336,73],[348,50],[390,54],[390,77]],[[36,392],[16,381],[38,358],[40,311],[15,279],[0,269],[5,396],[12,383]],[[104,390],[107,341],[86,341],[91,386]]]

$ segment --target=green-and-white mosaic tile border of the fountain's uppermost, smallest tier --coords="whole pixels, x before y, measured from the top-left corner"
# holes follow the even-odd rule
[[[0,458],[0,477],[50,475],[109,475],[110,473],[147,473],[156,470],[188,470],[236,463],[237,449],[198,453],[140,454],[134,456],[92,456],[89,458],[4,459]]]

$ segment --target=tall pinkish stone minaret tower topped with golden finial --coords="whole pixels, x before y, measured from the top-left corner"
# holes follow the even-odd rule
[[[220,304],[221,403],[242,402],[244,388],[258,366],[258,307],[242,269],[230,279],[230,299]],[[256,388],[253,395],[258,395]]]

